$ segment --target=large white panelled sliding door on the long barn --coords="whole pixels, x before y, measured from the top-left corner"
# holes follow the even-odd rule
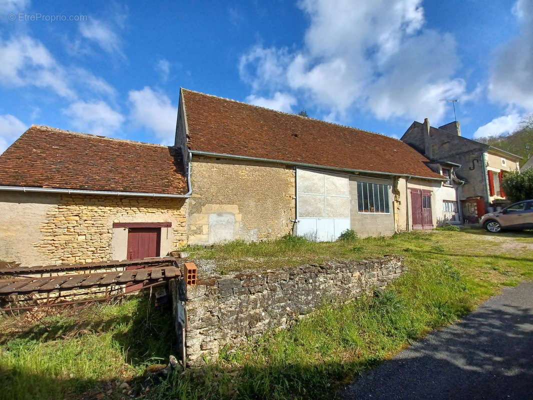
[[[298,235],[327,242],[350,229],[348,177],[297,169],[296,183]]]

